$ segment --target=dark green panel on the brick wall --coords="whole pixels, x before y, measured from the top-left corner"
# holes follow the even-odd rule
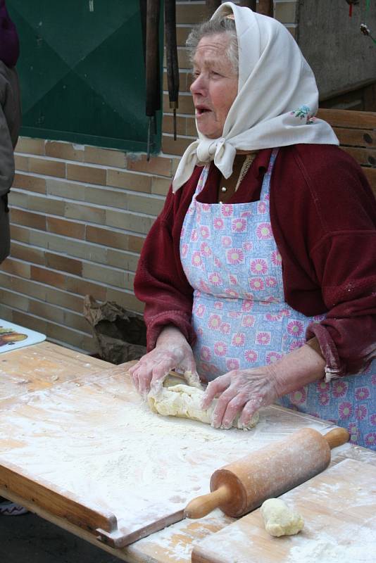
[[[139,0],[8,0],[28,137],[146,151]],[[160,148],[159,134],[151,147]]]

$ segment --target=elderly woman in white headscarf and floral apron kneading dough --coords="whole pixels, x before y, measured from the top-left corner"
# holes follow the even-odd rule
[[[278,402],[376,448],[370,187],[314,117],[315,78],[284,26],[227,2],[187,44],[199,139],[139,261],[149,351],[134,384],[199,373],[215,427]]]

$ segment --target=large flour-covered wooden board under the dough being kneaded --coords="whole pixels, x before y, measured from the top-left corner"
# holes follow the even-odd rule
[[[179,521],[215,469],[302,426],[331,425],[277,406],[248,432],[161,417],[117,366],[3,403],[0,486],[123,547]]]

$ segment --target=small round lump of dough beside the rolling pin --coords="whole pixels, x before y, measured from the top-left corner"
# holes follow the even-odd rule
[[[300,514],[289,510],[280,498],[269,498],[261,506],[265,530],[270,536],[293,536],[303,529],[304,521]]]

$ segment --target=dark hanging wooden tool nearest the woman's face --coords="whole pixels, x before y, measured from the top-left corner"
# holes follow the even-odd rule
[[[176,45],[176,3],[165,0],[165,50],[167,63],[168,99],[173,109],[174,141],[176,141],[176,110],[179,99],[179,63]]]

